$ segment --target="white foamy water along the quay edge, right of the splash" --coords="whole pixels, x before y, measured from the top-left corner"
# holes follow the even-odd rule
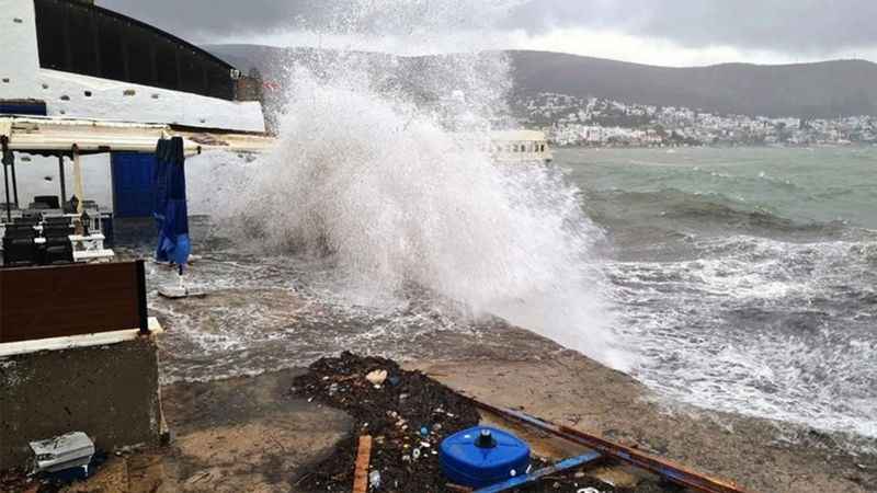
[[[627,286],[616,295],[642,352],[637,376],[705,408],[877,438],[875,312],[836,305],[873,296],[874,243],[695,243],[697,261],[607,266]]]

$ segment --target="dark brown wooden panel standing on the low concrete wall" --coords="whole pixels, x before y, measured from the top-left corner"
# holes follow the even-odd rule
[[[141,329],[136,264],[0,270],[0,343]]]

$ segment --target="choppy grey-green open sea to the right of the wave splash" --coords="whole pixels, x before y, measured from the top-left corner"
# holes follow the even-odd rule
[[[877,437],[877,149],[560,150],[650,387]]]

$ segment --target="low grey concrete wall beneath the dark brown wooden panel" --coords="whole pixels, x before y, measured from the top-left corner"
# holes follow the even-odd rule
[[[0,358],[0,470],[25,466],[30,442],[68,432],[105,451],[160,442],[152,339]]]

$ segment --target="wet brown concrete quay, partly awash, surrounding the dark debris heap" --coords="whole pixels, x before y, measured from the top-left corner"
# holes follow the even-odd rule
[[[162,393],[176,439],[169,449],[111,462],[107,474],[125,471],[114,484],[126,489],[88,491],[299,491],[291,478],[326,454],[348,422],[284,390],[295,367],[354,351],[399,358],[483,401],[752,491],[877,492],[877,456],[850,451],[850,437],[667,402],[624,374],[501,322],[460,326],[449,311],[415,301],[390,316],[351,310],[321,291],[318,270],[300,267],[214,252],[193,266],[194,276],[213,279],[207,298],[150,298],[168,331],[160,342]],[[153,267],[151,289],[173,279],[162,268]],[[230,271],[241,273],[224,277]],[[223,379],[232,371],[254,376]]]

